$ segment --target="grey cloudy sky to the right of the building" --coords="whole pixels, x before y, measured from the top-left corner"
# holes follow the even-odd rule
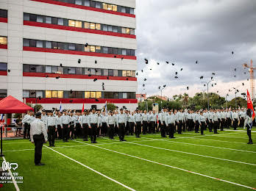
[[[228,99],[232,87],[246,92],[249,72],[242,65],[252,59],[256,67],[255,10],[255,0],[137,0],[138,93],[160,94],[166,84],[163,95],[170,98],[194,95],[207,90],[202,82],[212,73],[210,92]]]

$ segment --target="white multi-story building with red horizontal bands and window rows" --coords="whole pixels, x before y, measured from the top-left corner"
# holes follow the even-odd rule
[[[138,107],[135,0],[1,0],[0,97]]]

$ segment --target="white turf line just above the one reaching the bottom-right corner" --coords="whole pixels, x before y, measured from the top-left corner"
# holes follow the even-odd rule
[[[133,143],[133,142],[129,142],[129,141],[127,141],[126,143],[130,143],[130,144],[134,144],[134,145],[141,145],[139,143]],[[237,163],[241,163],[241,164],[244,164],[244,165],[256,166],[256,164],[252,164],[252,163],[241,162],[241,161],[230,160],[230,159],[222,159],[222,158],[218,158],[218,157],[214,157],[214,156],[207,156],[207,155],[202,155],[202,154],[193,154],[193,153],[188,153],[188,152],[185,152],[185,151],[177,151],[177,150],[172,150],[172,149],[168,149],[168,148],[154,147],[154,146],[151,146],[151,145],[141,145],[141,146],[157,148],[157,149],[165,150],[165,151],[173,151],[173,152],[182,153],[182,154],[191,154],[191,155],[195,155],[195,156],[202,156],[202,157],[207,157],[207,158],[211,158],[211,159],[219,159],[219,160],[224,160],[224,161],[229,161],[229,162],[237,162]]]

